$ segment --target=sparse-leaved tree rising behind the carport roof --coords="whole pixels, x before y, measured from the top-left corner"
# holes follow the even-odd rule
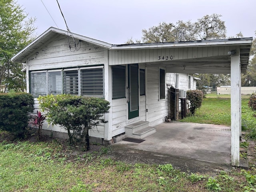
[[[226,38],[226,26],[221,17],[222,15],[212,14],[203,16],[197,22],[179,20],[175,26],[172,23],[160,22],[158,26],[142,30],[142,42],[158,43]],[[128,39],[127,42],[130,40]]]

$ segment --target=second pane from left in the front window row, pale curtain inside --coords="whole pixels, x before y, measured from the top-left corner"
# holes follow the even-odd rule
[[[48,94],[62,94],[61,71],[48,72]]]

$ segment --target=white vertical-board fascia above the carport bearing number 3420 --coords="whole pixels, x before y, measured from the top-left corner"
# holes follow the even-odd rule
[[[143,62],[163,62],[167,60],[181,60],[203,58],[211,56],[224,56],[236,46],[207,46],[207,47],[182,47],[182,48],[154,48],[140,50],[110,50],[109,64],[133,64]],[[160,59],[159,59],[160,57]],[[163,59],[164,58],[164,59]]]

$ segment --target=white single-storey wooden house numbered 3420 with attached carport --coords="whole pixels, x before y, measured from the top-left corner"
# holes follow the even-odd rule
[[[66,93],[108,100],[111,108],[104,117],[108,123],[91,130],[90,136],[109,142],[124,132],[138,138],[155,132],[152,126],[168,115],[170,73],[180,75],[180,89],[182,81],[195,87],[192,75],[183,79],[181,74],[231,73],[231,89],[239,92],[240,70],[248,65],[251,44],[252,38],[238,38],[113,45],[51,27],[12,61],[26,63],[27,90],[35,97]],[[231,99],[237,100],[231,105],[232,163],[236,165],[240,96],[234,94]],[[136,130],[138,126],[142,130]],[[65,132],[59,126],[44,129]]]

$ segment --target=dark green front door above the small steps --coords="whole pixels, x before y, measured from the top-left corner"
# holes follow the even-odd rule
[[[128,65],[128,119],[139,116],[138,64]]]

